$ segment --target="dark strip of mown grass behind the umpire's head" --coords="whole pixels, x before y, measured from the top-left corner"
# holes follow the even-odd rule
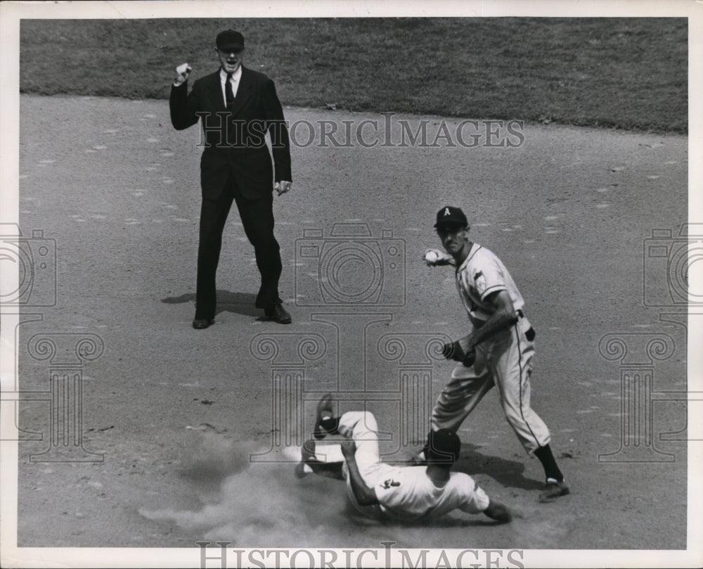
[[[20,91],[167,98],[226,27],[284,105],[688,128],[685,18],[22,20]]]

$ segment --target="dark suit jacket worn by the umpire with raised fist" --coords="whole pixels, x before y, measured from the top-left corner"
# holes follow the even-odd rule
[[[230,175],[245,198],[259,198],[273,191],[273,181],[292,181],[290,140],[283,109],[273,81],[263,73],[242,66],[237,96],[229,108],[224,104],[219,69],[193,83],[171,88],[171,122],[187,129],[200,118],[205,150],[200,158],[202,196],[217,199]],[[271,154],[266,146],[271,136]]]

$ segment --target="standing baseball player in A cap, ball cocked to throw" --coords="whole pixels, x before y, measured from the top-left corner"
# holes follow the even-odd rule
[[[512,430],[544,467],[546,489],[540,501],[564,496],[569,487],[550,449],[549,430],[530,407],[535,333],[524,316],[520,290],[493,252],[469,240],[469,224],[460,208],[442,207],[434,227],[446,253],[427,250],[425,262],[456,267],[456,287],[472,332],[444,346],[444,357],[459,363],[434,404],[432,430],[456,432],[495,385]]]

